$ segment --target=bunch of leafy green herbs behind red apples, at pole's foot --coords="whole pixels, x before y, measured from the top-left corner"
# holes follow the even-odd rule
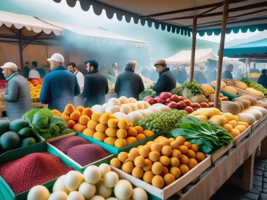
[[[192,82],[187,80],[181,86],[172,89],[171,94],[177,94],[178,96],[191,99],[195,95],[202,94],[202,91],[201,86],[193,79]]]

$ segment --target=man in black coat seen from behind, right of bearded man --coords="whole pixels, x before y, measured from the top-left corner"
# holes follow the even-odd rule
[[[122,96],[133,97],[139,101],[139,94],[144,91],[145,87],[141,77],[134,73],[136,65],[136,61],[126,62],[124,73],[117,77],[114,91],[118,98]]]

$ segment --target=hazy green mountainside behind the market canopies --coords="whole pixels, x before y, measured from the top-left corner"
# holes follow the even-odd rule
[[[56,7],[49,6],[36,0],[0,0],[0,5],[0,9],[7,12],[30,15],[37,18],[64,23],[86,26],[99,26],[108,29],[113,33],[142,41],[147,41],[151,49],[150,57],[155,59],[165,59],[172,55],[175,55],[181,50],[191,50],[191,37],[167,32],[167,30],[156,30],[154,26],[150,28],[147,25],[136,25],[133,21],[127,23],[124,19],[122,21],[118,21],[117,19],[113,18],[111,20],[108,20],[108,22],[107,20],[105,20],[105,22],[102,22],[101,20],[97,20],[97,17],[99,16],[96,16],[89,12],[87,19],[85,19],[83,17],[79,17],[79,13],[75,13],[75,16],[68,15],[63,13]],[[91,18],[92,20],[90,20]],[[225,47],[266,38],[266,33],[267,31],[263,31],[247,39],[235,39],[230,42],[226,42]],[[219,43],[197,39],[196,49],[207,48],[213,49],[213,53],[217,55]]]

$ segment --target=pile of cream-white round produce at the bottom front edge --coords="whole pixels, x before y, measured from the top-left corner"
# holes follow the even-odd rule
[[[112,191],[114,191],[113,194]],[[31,200],[130,198],[132,200],[147,200],[148,196],[142,188],[133,189],[129,181],[119,180],[117,173],[111,171],[110,166],[105,163],[99,167],[88,166],[83,174],[72,170],[60,176],[54,183],[51,194],[46,187],[37,185],[30,189],[27,196],[27,199]]]

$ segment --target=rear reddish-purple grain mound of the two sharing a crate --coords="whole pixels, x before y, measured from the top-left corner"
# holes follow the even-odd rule
[[[70,136],[56,140],[54,142],[51,142],[50,144],[56,147],[58,150],[62,151],[64,154],[66,154],[68,149],[78,145],[89,144],[89,142],[79,136]]]

